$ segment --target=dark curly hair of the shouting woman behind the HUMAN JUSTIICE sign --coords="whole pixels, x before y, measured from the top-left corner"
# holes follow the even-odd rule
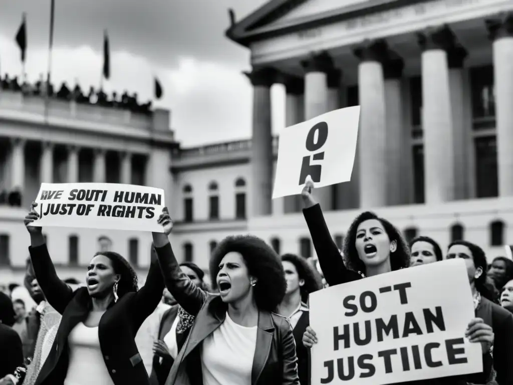
[[[410,265],[410,252],[408,246],[406,245],[406,241],[404,240],[399,230],[386,219],[380,218],[370,211],[364,211],[364,213],[354,218],[351,225],[349,226],[347,236],[344,240],[344,247],[342,249],[346,265],[355,272],[365,273],[365,264],[358,256],[355,243],[358,226],[360,223],[369,219],[376,219],[380,221],[390,241],[397,242],[396,251],[390,253],[390,266],[392,267],[392,271],[408,267]]]

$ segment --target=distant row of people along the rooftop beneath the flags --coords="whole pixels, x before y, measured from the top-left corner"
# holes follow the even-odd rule
[[[80,85],[77,84],[74,88],[70,88],[66,82],[62,83],[61,88],[57,90],[52,83],[48,84],[43,79],[43,75],[40,76],[40,80],[31,84],[26,80],[19,81],[17,76],[11,78],[6,74],[4,78],[0,77],[0,92],[2,90],[22,92],[24,95],[35,97],[46,97],[48,95],[49,98],[56,100],[73,100],[80,104],[124,109],[135,113],[151,113],[151,101],[143,104],[139,103],[137,101],[137,93],[130,95],[128,91],[125,91],[123,94],[112,92],[111,95],[107,95],[102,88],[95,90],[92,86],[88,92],[84,92]]]

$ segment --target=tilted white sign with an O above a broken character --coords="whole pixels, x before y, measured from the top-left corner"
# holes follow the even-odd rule
[[[347,107],[281,130],[272,198],[300,194],[308,175],[315,187],[350,181],[359,121]]]

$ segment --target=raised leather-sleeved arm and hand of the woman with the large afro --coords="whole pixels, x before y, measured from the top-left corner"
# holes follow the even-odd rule
[[[167,208],[163,209],[162,215],[159,217],[159,223],[164,226],[164,233],[152,233],[152,235],[165,285],[184,310],[190,315],[195,316],[206,301],[208,294],[196,286],[182,272],[180,265],[176,261],[171,243],[169,242],[169,233],[166,234],[166,230],[168,229],[170,232],[173,226]]]

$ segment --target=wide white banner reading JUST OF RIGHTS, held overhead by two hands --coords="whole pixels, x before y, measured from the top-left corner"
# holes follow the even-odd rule
[[[118,183],[42,183],[33,226],[139,230],[163,233],[161,188]]]

